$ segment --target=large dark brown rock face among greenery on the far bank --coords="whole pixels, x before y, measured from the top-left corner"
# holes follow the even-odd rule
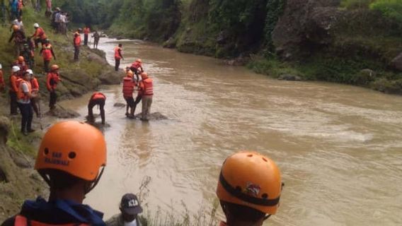
[[[272,32],[277,54],[283,59],[300,59],[331,41],[342,11],[340,0],[288,0]]]

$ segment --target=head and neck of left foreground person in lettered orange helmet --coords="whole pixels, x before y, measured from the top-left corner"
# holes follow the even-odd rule
[[[82,203],[105,165],[106,143],[101,131],[83,122],[62,121],[43,136],[35,169],[50,186],[50,200]]]

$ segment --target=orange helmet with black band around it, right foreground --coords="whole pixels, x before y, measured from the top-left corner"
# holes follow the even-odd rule
[[[226,158],[217,187],[220,200],[275,214],[282,182],[274,161],[259,153],[245,151]]]

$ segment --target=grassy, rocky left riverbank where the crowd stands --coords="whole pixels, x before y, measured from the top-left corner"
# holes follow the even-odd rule
[[[39,23],[45,30],[52,43],[57,60],[52,64],[60,67],[62,83],[57,87],[60,100],[69,100],[80,97],[85,93],[96,90],[100,85],[120,83],[120,73],[115,73],[112,66],[105,60],[105,54],[100,50],[81,47],[80,60],[74,61],[74,48],[72,47],[72,31],[67,36],[53,32],[50,23],[45,18],[44,11],[35,13],[28,5],[24,9],[23,23],[25,34],[33,34],[33,23]],[[47,196],[47,185],[33,170],[34,157],[43,132],[60,117],[74,117],[69,109],[60,108],[50,113],[47,102],[46,74],[42,71],[42,57],[39,50],[35,51],[36,65],[33,68],[35,76],[40,83],[40,105],[42,119],[34,117],[33,129],[35,133],[23,136],[20,132],[21,116],[9,116],[8,104],[8,76],[10,65],[16,58],[13,56],[13,45],[8,44],[11,32],[8,26],[0,28],[0,63],[3,66],[4,80],[7,88],[0,94],[0,222],[11,215],[18,213],[25,199],[36,196]],[[40,127],[43,130],[40,130]]]

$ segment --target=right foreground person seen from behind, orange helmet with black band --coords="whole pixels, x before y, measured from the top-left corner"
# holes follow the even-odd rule
[[[226,158],[217,196],[226,222],[221,226],[260,226],[277,212],[283,184],[280,169],[270,158],[245,151]]]

